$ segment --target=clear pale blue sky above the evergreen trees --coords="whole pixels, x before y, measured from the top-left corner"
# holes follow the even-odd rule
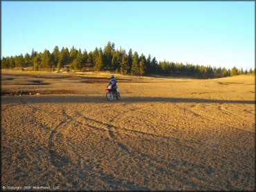
[[[157,61],[255,68],[255,1],[2,1],[1,57],[114,42]]]

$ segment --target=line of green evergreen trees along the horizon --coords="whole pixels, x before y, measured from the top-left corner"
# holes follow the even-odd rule
[[[120,48],[115,49],[115,44],[110,41],[107,46],[95,48],[95,50],[82,52],[74,46],[71,50],[55,46],[53,52],[44,50],[44,52],[36,52],[34,49],[29,55],[22,54],[15,57],[3,57],[1,59],[1,68],[26,68],[33,67],[34,70],[44,68],[57,68],[60,70],[64,66],[69,66],[71,70],[82,70],[84,67],[94,68],[94,70],[115,70],[116,73],[131,75],[187,75],[198,78],[216,78],[229,77],[242,74],[253,74],[253,70],[243,70],[235,66],[230,70],[226,68],[216,68],[211,66],[199,66],[193,64],[174,63],[170,61],[156,61],[156,57],[152,59],[151,55],[138,55],[138,52],[132,52]]]

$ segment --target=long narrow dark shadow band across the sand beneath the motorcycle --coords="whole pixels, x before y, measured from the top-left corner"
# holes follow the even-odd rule
[[[114,99],[107,101],[104,96],[81,96],[81,95],[44,95],[44,96],[21,96],[1,97],[2,103],[143,103],[143,102],[170,102],[170,103],[219,103],[219,104],[255,104],[255,101],[243,100],[219,100],[219,99],[196,99],[177,97],[121,97],[121,100]]]

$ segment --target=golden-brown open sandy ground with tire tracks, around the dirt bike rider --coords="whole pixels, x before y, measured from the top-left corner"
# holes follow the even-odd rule
[[[1,187],[255,190],[255,77],[105,77],[1,71]]]

